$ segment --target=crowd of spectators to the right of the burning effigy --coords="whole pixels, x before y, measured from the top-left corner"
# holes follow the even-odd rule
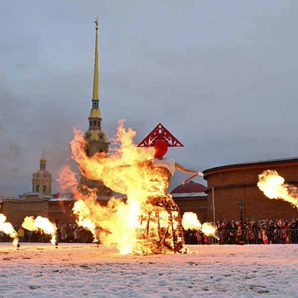
[[[197,230],[185,232],[188,244],[297,244],[298,218],[245,221],[224,220],[216,223],[216,236],[207,237]]]

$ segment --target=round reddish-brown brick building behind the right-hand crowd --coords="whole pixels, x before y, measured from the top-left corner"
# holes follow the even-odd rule
[[[207,180],[207,220],[240,219],[238,203],[244,204],[243,219],[298,218],[297,208],[280,199],[269,199],[259,190],[258,175],[264,170],[276,170],[285,183],[298,187],[298,157],[237,163],[203,171]],[[212,191],[213,190],[213,191]]]

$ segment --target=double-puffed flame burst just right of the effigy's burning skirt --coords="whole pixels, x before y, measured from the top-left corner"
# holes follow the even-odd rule
[[[206,236],[216,236],[216,227],[211,223],[201,224],[193,212],[185,212],[182,217],[182,225],[185,230],[194,229],[202,231]]]

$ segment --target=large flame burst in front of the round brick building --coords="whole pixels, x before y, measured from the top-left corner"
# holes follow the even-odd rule
[[[282,199],[298,209],[298,189],[285,183],[277,171],[266,170],[259,175],[259,189],[269,199]]]

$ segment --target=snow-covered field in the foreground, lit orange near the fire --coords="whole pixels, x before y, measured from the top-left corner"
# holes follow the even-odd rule
[[[298,244],[121,255],[96,244],[0,243],[0,297],[298,297]]]

